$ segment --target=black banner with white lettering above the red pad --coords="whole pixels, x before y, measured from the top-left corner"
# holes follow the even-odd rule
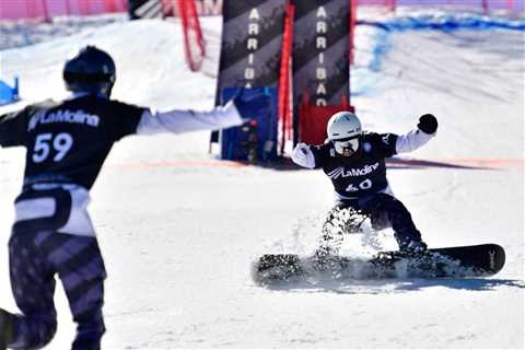
[[[295,1],[292,54],[295,107],[304,93],[317,106],[339,105],[341,96],[349,98],[349,35],[350,0]]]

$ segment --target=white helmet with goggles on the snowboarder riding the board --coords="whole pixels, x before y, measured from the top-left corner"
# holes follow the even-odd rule
[[[351,112],[338,112],[332,115],[328,120],[326,132],[328,139],[334,142],[336,152],[345,156],[355,153],[363,133],[361,121]]]

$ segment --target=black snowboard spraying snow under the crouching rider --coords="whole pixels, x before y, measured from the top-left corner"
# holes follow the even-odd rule
[[[253,266],[259,284],[308,279],[480,278],[498,273],[505,252],[497,244],[432,248],[419,254],[380,252],[372,257],[265,254]]]

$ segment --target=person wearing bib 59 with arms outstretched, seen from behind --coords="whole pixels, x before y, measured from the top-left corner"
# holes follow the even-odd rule
[[[129,135],[238,126],[248,104],[253,112],[268,103],[261,95],[209,112],[153,113],[109,100],[115,78],[113,58],[88,46],[63,67],[69,98],[0,116],[0,145],[27,150],[9,241],[11,287],[21,314],[0,308],[0,349],[39,349],[51,340],[55,275],[78,324],[72,349],[100,349],[106,271],[86,207],[115,142]]]

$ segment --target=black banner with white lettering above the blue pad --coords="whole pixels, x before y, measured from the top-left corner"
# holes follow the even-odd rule
[[[277,88],[285,0],[225,0],[215,103],[224,88]]]

